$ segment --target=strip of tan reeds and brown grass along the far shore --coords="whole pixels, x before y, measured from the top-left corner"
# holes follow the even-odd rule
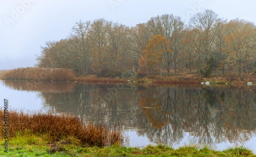
[[[170,70],[173,72],[173,70]],[[160,76],[160,75],[148,75],[144,77],[115,77],[115,78],[105,78],[98,77],[96,75],[87,75],[85,77],[78,77],[78,74],[73,70],[67,69],[51,69],[51,68],[41,68],[41,67],[26,67],[17,68],[13,70],[6,70],[3,73],[3,79],[13,79],[13,80],[35,80],[35,81],[79,81],[79,82],[91,82],[91,83],[171,83],[171,84],[198,84],[206,81],[210,81],[211,84],[244,84],[247,82],[256,82],[255,75],[249,75],[246,73],[243,80],[241,81],[239,74],[226,73],[224,75],[210,75],[208,77],[199,77],[197,73],[185,74],[172,74],[170,76]],[[38,88],[42,84],[27,84],[26,86],[32,86]],[[47,90],[47,88],[46,88]]]

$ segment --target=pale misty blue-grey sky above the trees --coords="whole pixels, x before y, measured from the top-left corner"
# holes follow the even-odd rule
[[[79,20],[127,26],[162,14],[189,18],[211,9],[219,18],[256,23],[256,0],[0,0],[0,70],[33,67],[41,46],[67,38]]]

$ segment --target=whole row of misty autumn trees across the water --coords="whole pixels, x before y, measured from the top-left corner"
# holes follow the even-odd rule
[[[223,20],[212,10],[188,24],[163,14],[128,27],[104,19],[79,21],[70,36],[46,42],[38,67],[68,68],[80,75],[133,78],[196,72],[201,76],[256,68],[256,26]]]

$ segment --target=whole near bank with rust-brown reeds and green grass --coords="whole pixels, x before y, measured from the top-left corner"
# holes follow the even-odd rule
[[[4,119],[3,110],[0,118]],[[4,157],[113,157],[113,156],[176,156],[176,157],[256,157],[244,147],[215,151],[197,146],[172,149],[168,146],[147,146],[143,149],[124,147],[118,129],[84,124],[77,116],[9,111],[8,154],[5,152],[4,130],[0,132],[0,156]],[[0,128],[4,123],[0,123]]]

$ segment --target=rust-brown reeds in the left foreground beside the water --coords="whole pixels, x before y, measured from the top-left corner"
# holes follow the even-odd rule
[[[4,111],[0,109],[0,119],[4,119]],[[84,124],[78,116],[66,114],[51,114],[40,112],[23,112],[11,110],[8,115],[9,138],[17,133],[46,135],[49,140],[59,141],[67,137],[75,137],[81,143],[88,146],[111,146],[122,145],[123,136],[118,128],[110,129],[95,125],[92,122]],[[0,136],[4,137],[4,122],[0,123]]]

